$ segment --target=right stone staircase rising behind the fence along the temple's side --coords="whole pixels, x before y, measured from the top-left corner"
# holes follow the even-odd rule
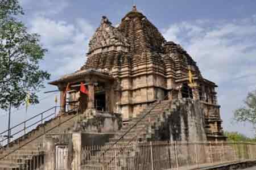
[[[108,143],[105,143],[105,146],[101,148],[101,151],[98,151],[89,160],[87,159],[84,163],[82,163],[82,170],[100,170],[102,169],[102,163],[107,166],[107,169],[126,168],[121,167],[121,165],[125,165],[125,163],[121,163],[118,167],[116,167],[114,159],[123,161],[129,158],[129,160],[132,161],[133,156],[135,156],[135,153],[138,152],[136,148],[131,146],[133,142],[159,140],[159,131],[162,130],[164,124],[168,124],[168,116],[170,116],[172,112],[175,112],[181,103],[182,101],[180,100],[162,100],[156,101],[156,103],[149,105],[146,109],[139,113],[137,117],[131,118],[126,126],[123,126],[119,131],[117,131],[114,137],[110,138]],[[147,114],[146,117],[144,117],[145,114]],[[135,124],[137,125],[134,126]],[[134,128],[132,128],[133,126]],[[130,131],[127,131],[129,129]],[[114,153],[114,145],[115,147],[120,148],[126,147],[126,153]]]

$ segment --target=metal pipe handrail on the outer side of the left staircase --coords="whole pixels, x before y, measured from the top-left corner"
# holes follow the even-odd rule
[[[46,120],[47,118],[49,118],[49,117],[51,117],[51,116],[53,116],[53,115],[54,115],[54,117],[55,117],[55,116],[56,116],[57,108],[59,108],[59,106],[54,106],[54,107],[52,107],[52,108],[49,108],[49,109],[47,109],[46,111],[43,111],[43,112],[41,112],[41,113],[39,113],[39,114],[36,114],[35,116],[33,116],[33,117],[31,117],[31,118],[28,118],[27,120],[25,120],[25,121],[23,121],[23,122],[21,122],[21,123],[15,125],[15,126],[13,126],[12,128],[3,131],[2,133],[0,133],[0,135],[1,135],[1,134],[4,134],[4,133],[6,133],[6,132],[8,132],[9,130],[11,131],[11,130],[13,130],[13,129],[15,129],[15,128],[18,128],[18,127],[20,127],[21,125],[24,125],[24,127],[23,127],[21,130],[16,131],[14,134],[10,134],[10,137],[7,136],[6,138],[2,139],[2,140],[0,141],[0,143],[6,141],[7,139],[13,137],[13,136],[16,135],[16,134],[21,133],[22,131],[24,131],[24,135],[25,135],[25,134],[27,133],[26,130],[27,130],[28,128],[31,128],[32,126],[38,124],[39,122],[41,122],[41,124],[43,124],[43,121],[44,121],[44,120]],[[55,109],[54,113],[51,113],[51,114],[47,115],[46,117],[44,117],[44,114],[46,114],[48,111],[51,111],[52,109]],[[26,126],[26,123],[27,123],[28,121],[31,121],[31,120],[33,120],[34,118],[38,118],[38,117],[40,117],[40,120],[39,120],[39,121],[31,122],[32,124]],[[17,139],[18,139],[18,138],[17,138]],[[10,143],[11,143],[11,142],[10,142]],[[9,145],[9,144],[7,144],[7,145]],[[6,145],[3,145],[2,147],[0,147],[0,149],[3,148],[3,147],[6,147]]]

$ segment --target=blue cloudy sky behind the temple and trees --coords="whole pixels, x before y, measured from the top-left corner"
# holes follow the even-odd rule
[[[195,59],[205,78],[218,84],[218,101],[224,130],[253,135],[251,126],[232,124],[233,111],[247,92],[256,89],[256,1],[90,1],[20,0],[28,31],[41,35],[49,51],[42,61],[51,79],[79,69],[85,62],[88,41],[106,15],[113,25],[131,10],[133,3],[155,24],[168,41],[183,46]],[[46,85],[46,89],[56,87]],[[28,109],[27,117],[54,105],[55,94]],[[13,112],[12,124],[24,119],[24,107]],[[2,112],[0,129],[7,128]]]

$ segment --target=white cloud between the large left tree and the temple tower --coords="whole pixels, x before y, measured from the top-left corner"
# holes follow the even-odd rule
[[[85,63],[89,37],[94,31],[85,19],[67,23],[37,16],[30,24],[30,32],[39,33],[43,45],[49,51],[44,65],[53,77],[76,71]]]

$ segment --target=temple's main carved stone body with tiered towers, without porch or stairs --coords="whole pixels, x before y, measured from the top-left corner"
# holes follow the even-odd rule
[[[87,61],[81,67],[84,69],[109,70],[117,85],[114,112],[124,119],[136,116],[146,105],[166,95],[170,100],[180,97],[181,87],[189,84],[189,70],[195,85],[193,99],[217,104],[216,84],[204,79],[192,57],[179,44],[167,42],[135,8],[118,27],[102,18],[90,40]],[[220,115],[208,120],[207,129],[221,133]]]

